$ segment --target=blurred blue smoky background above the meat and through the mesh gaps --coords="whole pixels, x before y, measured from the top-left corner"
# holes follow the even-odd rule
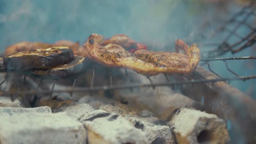
[[[54,43],[66,39],[83,44],[91,33],[105,37],[123,33],[142,43],[154,44],[150,49],[164,51],[174,51],[174,41],[178,38],[189,44],[219,42],[224,35],[208,41],[207,36],[241,8],[232,2],[235,1],[0,0],[1,51],[19,41]],[[223,57],[232,56],[255,55],[248,50]],[[240,75],[255,74],[255,67],[244,70],[248,65],[245,61],[229,64]],[[223,70],[223,64],[213,63],[212,68],[219,75],[230,76]],[[256,97],[254,83],[255,80],[246,81],[241,86],[240,81],[234,81],[230,85]]]

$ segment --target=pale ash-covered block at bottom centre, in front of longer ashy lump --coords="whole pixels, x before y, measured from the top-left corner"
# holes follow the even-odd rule
[[[84,121],[89,143],[149,143],[143,131],[116,114]]]

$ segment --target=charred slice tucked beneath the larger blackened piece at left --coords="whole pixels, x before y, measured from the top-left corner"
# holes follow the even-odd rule
[[[48,70],[32,70],[31,75],[44,79],[67,79],[83,74],[87,66],[88,62],[84,57],[74,56],[74,60],[68,64]]]

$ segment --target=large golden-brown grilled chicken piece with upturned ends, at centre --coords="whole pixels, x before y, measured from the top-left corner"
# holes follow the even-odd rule
[[[84,44],[90,59],[107,67],[132,69],[142,75],[190,73],[195,69],[200,59],[200,50],[196,45],[193,44],[189,48],[182,40],[177,41],[177,50],[180,47],[186,55],[138,50],[135,52],[135,56],[124,57],[105,49],[98,40],[100,37],[102,35],[91,34]]]

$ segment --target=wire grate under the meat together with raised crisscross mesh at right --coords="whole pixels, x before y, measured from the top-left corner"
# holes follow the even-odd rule
[[[255,60],[255,57],[229,57],[229,58],[216,58],[216,56],[220,56],[223,55],[224,53],[231,51],[232,53],[236,53],[238,51],[241,51],[243,49],[245,49],[246,47],[252,46],[255,43],[256,40],[256,27],[254,27],[253,25],[251,25],[251,23],[249,23],[248,21],[252,21],[256,18],[256,14],[254,13],[254,8],[255,8],[255,4],[251,3],[246,5],[245,7],[243,7],[240,11],[238,11],[238,13],[234,14],[234,16],[231,17],[231,19],[227,20],[226,22],[224,22],[224,24],[222,26],[220,26],[213,34],[212,37],[217,37],[218,34],[222,34],[223,32],[228,32],[227,37],[225,37],[222,42],[220,44],[213,44],[213,45],[218,45],[218,47],[216,49],[213,49],[211,51],[209,51],[209,57],[210,58],[206,58],[206,59],[201,59],[201,65],[207,65],[208,70],[210,70],[213,74],[215,74],[216,76],[218,76],[218,79],[211,79],[211,80],[202,80],[202,79],[198,79],[198,80],[192,80],[192,81],[188,81],[187,79],[183,79],[182,81],[171,81],[170,77],[168,77],[167,75],[165,75],[167,82],[164,83],[153,83],[152,80],[150,79],[150,77],[148,77],[150,83],[148,84],[141,84],[141,83],[131,83],[129,85],[113,85],[113,76],[112,73],[109,71],[109,83],[108,85],[104,85],[104,86],[94,86],[95,83],[95,77],[97,76],[95,74],[95,67],[96,66],[92,66],[92,75],[91,75],[91,81],[90,81],[90,86],[86,86],[86,87],[77,87],[76,86],[76,82],[77,79],[74,79],[73,82],[71,83],[70,86],[67,86],[66,89],[64,90],[56,90],[55,87],[55,83],[57,82],[57,80],[53,81],[53,86],[51,87],[51,89],[49,91],[40,91],[39,88],[42,85],[42,82],[44,79],[41,79],[37,85],[37,87],[35,89],[32,89],[30,91],[22,91],[20,88],[21,86],[25,83],[26,81],[26,75],[22,78],[22,81],[20,82],[20,84],[18,85],[17,89],[18,91],[4,91],[2,89],[1,94],[2,95],[15,95],[15,94],[19,94],[19,93],[26,93],[26,94],[51,94],[54,92],[92,92],[92,91],[101,91],[101,90],[113,90],[113,89],[131,89],[131,88],[138,88],[138,87],[158,87],[158,86],[182,86],[182,85],[192,85],[193,83],[204,83],[204,82],[217,82],[217,81],[233,81],[233,80],[242,80],[242,81],[246,81],[249,79],[255,79],[256,78],[256,74],[255,75],[246,75],[246,76],[240,76],[237,74],[236,71],[232,70],[232,68],[230,68],[228,61],[239,61],[241,59],[245,59],[245,60]],[[242,17],[242,19],[238,19],[238,17]],[[229,29],[229,27],[231,27],[231,25],[235,25],[234,28]],[[240,33],[239,33],[239,29],[241,27],[247,27],[249,29],[249,33],[243,37]],[[238,39],[240,39],[239,41],[237,41],[236,43],[229,43],[229,39],[231,39],[231,37],[235,35],[235,37],[237,37]],[[211,44],[210,44],[211,45]],[[212,58],[215,57],[215,58]],[[224,76],[220,76],[219,74],[217,74],[216,70],[213,70],[211,67],[211,62],[212,61],[222,61],[223,65],[221,67],[225,68],[226,70],[228,70],[232,76],[231,77],[224,77]],[[255,61],[253,61],[255,63]],[[7,81],[7,77],[9,75],[9,73],[13,73],[15,71],[5,71],[3,69],[3,65],[0,65],[0,71],[5,74],[4,79],[0,82],[0,86],[3,85],[3,83],[5,81]],[[127,70],[125,70],[125,76],[129,78],[129,74],[127,73]],[[183,77],[184,78],[184,77]],[[72,93],[71,93],[72,95]]]

